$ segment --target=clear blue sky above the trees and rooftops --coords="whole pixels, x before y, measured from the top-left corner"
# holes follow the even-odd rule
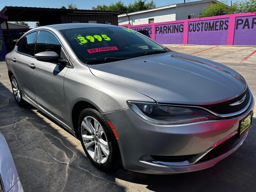
[[[72,3],[77,6],[78,9],[91,10],[92,7],[96,7],[98,4],[110,5],[116,3],[118,0],[0,0],[0,10],[4,6],[22,6],[22,7],[45,7],[45,8],[60,8],[62,6],[67,7],[68,4]],[[134,3],[135,0],[122,0],[125,5]],[[193,2],[196,0],[186,0],[186,2]],[[150,0],[146,0],[146,3]],[[184,0],[154,0],[156,7],[172,5],[177,3],[183,3]],[[230,0],[227,0],[230,5]],[[235,2],[235,0],[233,0]],[[34,28],[34,22],[28,22],[30,28]]]

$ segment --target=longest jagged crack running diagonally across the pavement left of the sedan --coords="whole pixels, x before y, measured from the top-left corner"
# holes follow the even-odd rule
[[[76,168],[79,168],[79,169],[85,171],[85,172],[88,172],[89,174],[91,174],[92,176],[94,176],[94,177],[96,177],[96,178],[100,178],[100,179],[103,179],[103,180],[105,180],[105,181],[107,181],[107,182],[110,182],[110,183],[112,183],[112,184],[115,184],[115,185],[117,185],[117,186],[123,188],[125,191],[127,191],[127,190],[126,190],[123,186],[121,186],[120,184],[117,184],[117,183],[115,183],[115,182],[112,182],[112,181],[110,181],[110,180],[108,180],[108,179],[106,179],[106,178],[104,178],[104,177],[97,176],[97,175],[93,174],[92,172],[90,172],[90,171],[88,171],[88,170],[86,170],[86,169],[84,169],[84,168],[82,168],[82,167],[80,167],[80,166],[78,166],[78,165],[72,164],[72,163],[70,163],[70,162],[60,161],[60,160],[58,160],[57,158],[55,158],[52,154],[50,154],[50,153],[48,153],[48,152],[46,152],[46,151],[44,151],[44,150],[42,150],[42,149],[40,149],[40,148],[37,148],[36,146],[34,146],[34,145],[32,145],[32,144],[30,144],[30,143],[24,141],[24,140],[18,139],[17,132],[18,132],[19,128],[16,127],[17,122],[18,122],[18,116],[17,116],[17,115],[15,115],[15,116],[16,116],[16,120],[14,121],[14,128],[16,129],[16,131],[15,131],[15,133],[14,133],[14,138],[15,138],[18,142],[25,142],[25,143],[28,144],[29,146],[32,146],[33,148],[35,148],[35,149],[37,149],[37,150],[40,150],[41,152],[44,152],[44,153],[48,154],[52,159],[54,159],[54,160],[55,160],[56,162],[58,162],[58,163],[63,163],[63,164],[72,165],[72,166],[74,166],[74,167],[76,167]],[[73,156],[73,158],[72,158],[72,161],[73,161],[73,160],[74,160],[74,156]],[[128,191],[127,191],[127,192],[128,192]]]

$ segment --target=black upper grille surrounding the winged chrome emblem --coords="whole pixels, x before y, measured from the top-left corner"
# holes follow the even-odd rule
[[[242,102],[239,105],[230,106],[230,104],[241,100],[245,94],[246,94],[246,98],[245,98],[244,102]],[[215,112],[216,114],[231,114],[231,113],[235,113],[240,110],[243,110],[245,108],[245,106],[248,104],[249,99],[250,99],[250,93],[247,88],[246,91],[244,91],[240,96],[238,96],[234,99],[231,99],[231,100],[228,100],[225,102],[221,102],[218,104],[203,105],[202,107],[204,107],[212,112]]]

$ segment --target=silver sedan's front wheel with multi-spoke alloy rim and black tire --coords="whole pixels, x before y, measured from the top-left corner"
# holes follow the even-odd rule
[[[100,112],[84,109],[79,116],[78,130],[84,152],[94,166],[102,171],[111,171],[120,166],[116,138]]]

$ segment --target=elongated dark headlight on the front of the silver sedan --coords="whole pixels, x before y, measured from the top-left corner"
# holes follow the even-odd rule
[[[218,119],[209,112],[194,107],[134,101],[128,101],[128,105],[140,118],[158,125],[178,125]]]

